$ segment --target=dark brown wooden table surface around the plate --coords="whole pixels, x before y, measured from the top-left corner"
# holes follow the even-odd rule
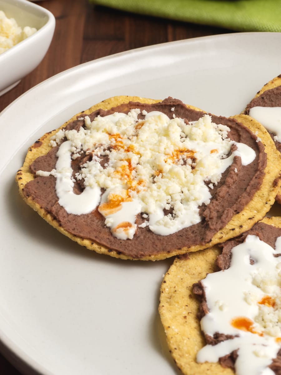
[[[232,32],[93,6],[87,0],[43,0],[37,4],[54,14],[54,37],[40,65],[0,96],[0,112],[31,87],[81,63],[133,48]],[[0,374],[24,373],[21,365],[16,369],[0,354]]]

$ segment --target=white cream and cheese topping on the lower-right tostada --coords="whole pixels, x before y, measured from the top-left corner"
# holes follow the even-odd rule
[[[276,340],[281,333],[281,259],[274,257],[281,253],[280,240],[274,250],[259,237],[247,236],[244,243],[232,249],[229,269],[210,273],[202,280],[209,308],[201,320],[203,332],[238,337],[206,345],[197,353],[197,362],[218,362],[220,357],[238,350],[237,375],[274,374],[267,366],[281,347]],[[250,264],[250,258],[254,264]],[[276,306],[259,303],[264,297],[274,300]],[[253,322],[253,333],[231,324],[241,317]]]

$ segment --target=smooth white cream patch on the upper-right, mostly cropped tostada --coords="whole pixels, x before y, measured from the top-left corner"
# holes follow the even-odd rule
[[[274,140],[281,142],[281,107],[253,107],[249,115],[274,133]]]

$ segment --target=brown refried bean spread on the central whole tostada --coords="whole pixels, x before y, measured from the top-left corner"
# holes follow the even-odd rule
[[[184,129],[185,125],[192,126],[194,121],[198,121],[206,115],[203,112],[188,108],[181,101],[172,98],[167,98],[164,101],[155,104],[129,102],[128,104],[118,105],[111,110],[100,109],[94,111],[90,115],[81,114],[75,121],[67,124],[64,129],[65,134],[67,131],[71,132],[71,130],[79,132],[81,129],[83,130],[84,128],[87,128],[87,126],[91,126],[95,119],[100,121],[100,118],[103,117],[106,117],[106,119],[112,118],[110,116],[115,113],[119,114],[118,118],[121,118],[123,114],[129,114],[129,118],[137,116],[138,123],[135,127],[135,132],[139,131],[139,129],[144,126],[143,123],[146,121],[146,118],[148,118],[146,122],[149,122],[149,118],[151,118],[150,116],[153,115],[156,116],[155,121],[158,122],[166,121],[166,123],[169,123],[170,120],[172,121],[174,119],[175,121],[178,121],[178,124],[181,124],[180,126],[182,126],[182,129]],[[216,181],[212,181],[212,178],[209,177],[209,179],[205,178],[203,181],[203,187],[207,187],[209,198],[201,202],[199,208],[198,206],[196,208],[198,209],[200,220],[192,223],[191,218],[191,225],[189,226],[184,227],[184,225],[179,225],[178,228],[173,231],[170,222],[173,222],[175,219],[176,203],[174,201],[172,201],[172,203],[167,201],[166,205],[163,206],[164,208],[161,210],[161,213],[157,214],[161,217],[163,222],[166,220],[170,226],[167,225],[165,227],[164,224],[162,225],[163,228],[168,228],[166,232],[166,229],[163,229],[162,231],[162,227],[159,227],[160,229],[155,229],[154,231],[151,230],[151,228],[158,228],[151,224],[152,217],[155,213],[138,211],[138,209],[133,206],[132,202],[134,199],[132,199],[131,196],[128,196],[129,190],[132,192],[132,196],[134,196],[133,194],[135,194],[136,191],[141,191],[141,188],[145,184],[142,179],[134,180],[133,178],[136,170],[140,168],[138,163],[135,166],[133,165],[133,159],[129,161],[127,160],[125,164],[124,159],[120,160],[120,166],[118,166],[119,169],[117,169],[118,173],[123,171],[123,178],[126,180],[127,184],[127,190],[122,190],[123,198],[121,200],[123,200],[123,203],[126,202],[131,204],[130,210],[133,207],[133,213],[135,212],[134,210],[136,210],[136,214],[133,214],[135,217],[135,223],[132,224],[132,220],[128,219],[127,221],[124,220],[121,225],[119,225],[121,229],[118,233],[122,234],[124,234],[124,228],[129,231],[129,229],[134,226],[134,232],[133,234],[129,234],[129,237],[123,238],[122,236],[119,236],[118,238],[118,236],[115,236],[114,230],[118,226],[115,225],[114,230],[112,229],[112,222],[114,222],[115,216],[111,217],[110,215],[106,216],[106,214],[104,214],[104,210],[114,211],[116,208],[114,206],[108,207],[106,201],[100,202],[101,194],[105,195],[104,193],[106,192],[106,189],[111,189],[110,186],[102,187],[99,190],[99,193],[97,194],[99,207],[94,207],[90,212],[77,214],[75,210],[68,210],[65,208],[66,206],[59,204],[59,198],[57,195],[58,187],[56,185],[58,177],[55,172],[53,173],[52,171],[58,169],[58,151],[62,150],[61,145],[64,145],[65,148],[67,148],[67,142],[69,141],[65,137],[62,137],[60,141],[54,143],[48,154],[38,157],[30,165],[30,170],[34,173],[34,177],[36,178],[26,184],[23,193],[25,197],[31,197],[34,199],[40,207],[43,207],[47,213],[51,214],[51,216],[57,220],[59,225],[69,233],[103,245],[107,247],[109,251],[110,249],[113,249],[132,258],[138,259],[145,255],[158,254],[160,252],[169,253],[175,248],[180,249],[183,247],[206,244],[212,239],[215,233],[229,222],[234,214],[239,213],[245,205],[251,201],[254,193],[259,189],[260,184],[262,183],[264,168],[266,166],[264,146],[262,142],[259,142],[257,137],[247,129],[247,127],[237,123],[235,119],[218,117],[215,115],[207,115],[207,117],[208,116],[211,116],[212,123],[218,124],[219,127],[219,124],[228,127],[227,138],[230,139],[232,145],[229,153],[221,156],[221,159],[228,160],[231,155],[232,157],[234,155],[234,157],[232,162],[229,163],[227,168],[221,173],[220,178]],[[179,121],[179,119],[181,121]],[[127,121],[127,118],[124,117],[124,121],[125,120]],[[206,118],[206,121],[207,120],[208,118]],[[116,119],[114,121],[116,121]],[[170,130],[170,132],[172,132],[172,130]],[[134,134],[132,133],[132,136]],[[152,136],[154,136],[154,132],[151,132],[151,137]],[[184,134],[179,134],[179,137],[183,139]],[[114,143],[102,146],[102,141],[100,141],[98,155],[95,154],[95,152],[89,152],[89,150],[80,150],[79,152],[77,152],[77,150],[73,151],[71,168],[73,171],[72,181],[73,192],[75,195],[80,195],[87,190],[86,180],[88,177],[85,178],[85,175],[81,173],[81,169],[85,168],[85,165],[90,166],[92,165],[91,163],[98,161],[99,166],[95,168],[99,168],[99,171],[102,171],[102,169],[107,168],[109,165],[109,152],[111,152],[113,148],[115,148],[115,150],[122,148],[122,151],[124,152],[125,146],[124,143],[122,143],[124,136],[116,138],[116,134],[112,135],[110,133],[109,138],[114,138]],[[245,147],[249,147],[254,151],[253,161],[243,163],[242,157],[240,157],[239,154],[240,144],[247,145]],[[131,151],[133,152],[133,146],[126,145],[125,151],[127,153]],[[165,150],[163,152],[165,152]],[[210,151],[210,153],[214,154],[217,152],[218,150],[216,148]],[[75,157],[73,157],[73,155],[75,155]],[[139,157],[137,151],[135,151],[135,155]],[[188,164],[190,166],[191,174],[196,171],[196,168],[198,168],[199,161],[196,159],[196,154],[192,150],[178,150],[177,153],[171,151],[170,153],[167,153],[165,157],[165,160],[169,159],[169,163],[167,163],[172,166]],[[145,164],[142,168],[145,168]],[[113,174],[114,173],[115,172],[113,172]],[[159,174],[164,175],[164,172],[161,170],[154,171],[154,175],[151,177],[151,189],[154,187],[154,183],[158,183]],[[188,182],[186,183],[186,187],[188,187]],[[184,189],[185,187],[181,187],[181,191],[175,192],[175,194],[181,194]],[[115,193],[115,191],[110,191],[111,194]],[[172,193],[169,194],[172,195]],[[120,204],[120,201],[118,203]],[[100,208],[103,204],[105,204],[104,210]]]

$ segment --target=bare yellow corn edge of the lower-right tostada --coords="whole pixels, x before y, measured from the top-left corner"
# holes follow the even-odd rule
[[[264,218],[262,222],[281,227],[281,217]],[[184,375],[233,375],[219,363],[197,363],[197,352],[206,345],[197,319],[199,302],[192,285],[215,272],[215,260],[221,251],[210,249],[175,258],[160,289],[159,314],[167,344],[176,365]]]

